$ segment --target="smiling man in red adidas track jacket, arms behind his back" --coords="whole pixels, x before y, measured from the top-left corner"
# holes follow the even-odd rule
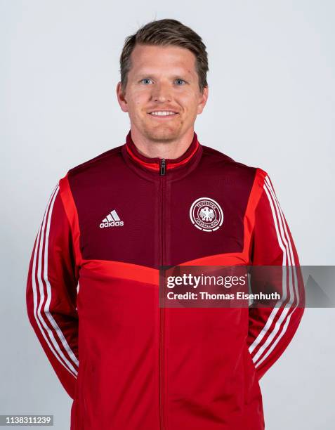
[[[298,267],[287,221],[265,171],[198,141],[208,65],[194,31],[150,22],[120,60],[126,143],[60,179],[27,280],[71,429],[264,429],[258,381],[301,320],[296,276],[285,308],[162,308],[158,273]]]

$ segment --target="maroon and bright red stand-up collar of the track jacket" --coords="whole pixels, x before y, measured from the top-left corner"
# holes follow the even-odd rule
[[[131,131],[126,136],[126,143],[124,144],[123,151],[124,157],[130,159],[132,164],[135,164],[140,169],[150,172],[151,174],[159,175],[162,174],[162,159],[159,157],[147,157],[141,154],[133,139],[131,138]],[[199,156],[202,153],[202,145],[200,145],[197,134],[194,132],[192,142],[188,149],[176,159],[165,159],[165,174],[174,176],[173,172],[180,172],[188,169],[199,161]],[[163,167],[164,169],[164,167]]]

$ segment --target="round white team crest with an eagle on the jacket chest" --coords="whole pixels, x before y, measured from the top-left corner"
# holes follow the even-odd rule
[[[215,200],[200,197],[190,207],[190,219],[199,230],[215,231],[223,223],[223,211]]]

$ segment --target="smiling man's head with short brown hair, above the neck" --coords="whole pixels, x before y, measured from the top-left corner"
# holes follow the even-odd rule
[[[131,129],[156,142],[193,131],[208,97],[206,46],[197,33],[176,20],[149,22],[126,38],[120,65],[117,97]]]

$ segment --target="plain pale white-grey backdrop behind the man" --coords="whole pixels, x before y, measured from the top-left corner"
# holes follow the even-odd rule
[[[175,18],[204,39],[209,102],[199,141],[268,172],[302,265],[334,265],[333,1],[0,1],[0,414],[53,414],[71,399],[25,308],[34,238],[67,170],[121,145],[127,35]],[[334,309],[306,309],[261,380],[266,429],[334,428]],[[18,427],[17,427],[18,428]]]

